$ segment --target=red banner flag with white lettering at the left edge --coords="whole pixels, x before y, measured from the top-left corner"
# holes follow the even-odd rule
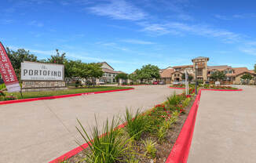
[[[2,74],[2,79],[5,82],[8,92],[20,91],[19,81],[16,78],[13,65],[7,56],[5,47],[2,45],[2,42],[0,42],[0,73]]]

